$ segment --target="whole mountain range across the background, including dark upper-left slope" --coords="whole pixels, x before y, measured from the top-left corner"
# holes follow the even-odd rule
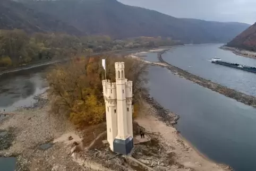
[[[2,0],[1,4],[6,4],[7,1]],[[228,42],[249,27],[244,23],[178,19],[158,11],[125,5],[116,0],[23,0],[16,3],[21,2],[27,9],[34,10],[34,13],[20,10],[21,7],[14,4],[13,9],[9,10],[12,16],[10,19],[6,18],[8,10],[6,12],[4,9],[5,16],[4,20],[0,19],[3,23],[0,24],[0,29],[108,35],[114,39],[161,36],[184,43],[201,44]],[[10,0],[8,3],[10,4]],[[4,11],[2,6],[1,12]]]

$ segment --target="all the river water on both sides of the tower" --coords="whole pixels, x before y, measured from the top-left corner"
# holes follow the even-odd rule
[[[256,60],[218,49],[219,44],[175,47],[163,58],[184,70],[227,87],[256,96],[256,74],[212,64],[212,57],[256,66]],[[143,54],[145,55],[145,54]],[[156,53],[146,59],[157,61]],[[0,77],[0,108],[31,105],[44,91],[42,68]],[[150,94],[162,106],[181,116],[177,129],[198,150],[235,170],[256,170],[256,109],[198,86],[169,70],[149,68]]]

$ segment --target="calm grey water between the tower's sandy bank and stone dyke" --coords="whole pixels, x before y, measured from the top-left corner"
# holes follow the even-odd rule
[[[197,149],[235,170],[256,170],[255,108],[161,67],[150,67],[149,78],[151,96],[181,116],[177,129]]]

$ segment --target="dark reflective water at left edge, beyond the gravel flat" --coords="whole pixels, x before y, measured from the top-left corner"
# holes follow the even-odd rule
[[[45,91],[46,66],[0,75],[0,110],[11,112],[17,107],[30,106],[33,97]]]

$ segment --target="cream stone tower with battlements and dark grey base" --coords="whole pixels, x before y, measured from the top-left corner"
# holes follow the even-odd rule
[[[124,62],[115,63],[116,82],[103,80],[107,140],[110,149],[127,155],[133,148],[132,81],[124,76]]]

